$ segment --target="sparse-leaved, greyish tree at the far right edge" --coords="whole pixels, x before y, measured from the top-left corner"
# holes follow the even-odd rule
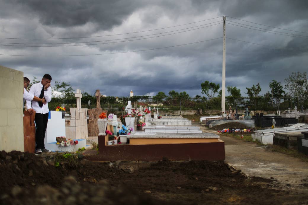
[[[308,97],[307,73],[293,72],[289,78],[285,79],[285,88],[290,91],[290,96],[296,97],[302,102],[303,98]]]

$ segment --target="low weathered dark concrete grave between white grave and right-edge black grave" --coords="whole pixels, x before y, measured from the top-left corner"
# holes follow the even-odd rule
[[[273,144],[288,149],[297,149],[297,137],[304,136],[301,132],[274,133]]]

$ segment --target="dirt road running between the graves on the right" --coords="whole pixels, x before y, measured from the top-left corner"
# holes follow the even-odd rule
[[[214,132],[199,123],[193,123],[201,130]],[[308,197],[308,163],[283,153],[265,150],[251,142],[244,142],[221,133],[220,139],[225,142],[225,162],[236,169],[241,169],[246,175],[265,179],[273,177],[294,194],[304,194]]]

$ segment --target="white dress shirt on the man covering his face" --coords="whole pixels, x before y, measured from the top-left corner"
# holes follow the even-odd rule
[[[41,95],[42,88],[44,86],[41,82],[36,83],[31,86],[29,94],[33,94],[36,97],[39,97]],[[44,91],[44,98],[46,100],[46,104],[43,104],[43,107],[39,106],[39,102],[32,101],[32,107],[31,107],[31,101],[27,101],[27,108],[33,108],[36,113],[45,114],[49,112],[48,109],[48,103],[51,101],[51,87],[48,87],[47,91]]]

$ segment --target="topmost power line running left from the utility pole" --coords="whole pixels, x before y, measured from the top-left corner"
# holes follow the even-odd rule
[[[219,17],[215,17],[215,18],[220,18],[222,16]],[[169,26],[169,27],[164,27],[164,28],[159,28],[159,29],[151,29],[151,30],[145,30],[145,31],[136,31],[136,32],[130,32],[130,33],[123,33],[123,34],[110,34],[110,35],[103,35],[103,36],[87,36],[87,37],[71,37],[71,38],[6,38],[6,37],[0,37],[2,39],[19,39],[19,40],[56,40],[56,39],[76,39],[76,38],[95,38],[95,37],[106,37],[106,36],[117,36],[117,35],[125,35],[125,34],[136,34],[136,33],[141,33],[141,32],[148,32],[148,31],[155,31],[155,30],[161,30],[161,29],[168,29],[168,28],[173,28],[173,27],[177,27],[177,26],[184,26],[184,25],[188,25],[188,24],[193,24],[193,23],[199,23],[199,22],[203,22],[203,21],[208,21],[208,20],[212,20],[215,18],[209,18],[209,19],[205,19],[205,20],[201,20],[201,21],[197,21],[197,22],[191,22],[191,23],[186,23],[186,24],[181,24],[181,25],[176,25],[176,26]]]

